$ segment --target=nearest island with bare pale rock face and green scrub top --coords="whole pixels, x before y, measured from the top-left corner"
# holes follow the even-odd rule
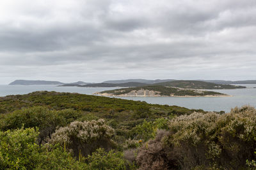
[[[182,89],[177,87],[165,87],[163,85],[149,85],[144,87],[130,87],[124,89],[106,90],[95,92],[100,96],[120,97],[228,97],[227,94],[219,92],[203,91],[196,89]]]

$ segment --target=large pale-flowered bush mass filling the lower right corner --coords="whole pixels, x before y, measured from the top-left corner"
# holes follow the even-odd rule
[[[159,155],[163,155],[163,150],[169,150],[165,154],[179,162],[182,169],[245,169],[247,159],[255,160],[256,110],[250,106],[234,108],[223,115],[182,115],[170,120],[169,128],[170,133],[161,140],[164,145],[161,148],[159,144],[152,145],[150,150],[156,147],[155,154]],[[138,154],[143,157],[143,152]]]

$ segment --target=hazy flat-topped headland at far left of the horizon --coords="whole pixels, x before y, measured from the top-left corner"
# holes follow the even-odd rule
[[[60,81],[45,81],[45,80],[15,80],[9,85],[63,85]]]

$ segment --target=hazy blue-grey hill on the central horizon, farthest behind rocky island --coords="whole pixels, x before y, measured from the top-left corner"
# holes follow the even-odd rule
[[[154,83],[162,83],[166,81],[173,81],[173,79],[166,79],[166,80],[145,80],[145,79],[126,79],[126,80],[108,80],[103,81],[102,83],[129,83],[129,82],[138,82],[138,83],[145,83],[145,84],[154,84]]]

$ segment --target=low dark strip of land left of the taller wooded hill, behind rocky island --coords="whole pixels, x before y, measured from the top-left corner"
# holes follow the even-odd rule
[[[60,85],[62,87],[68,87],[68,86],[77,86],[77,87],[141,87],[144,85],[148,85],[145,83],[137,83],[137,82],[129,82],[129,83],[92,83],[88,85],[72,85],[72,84],[65,84]]]

